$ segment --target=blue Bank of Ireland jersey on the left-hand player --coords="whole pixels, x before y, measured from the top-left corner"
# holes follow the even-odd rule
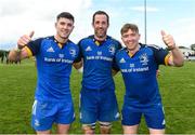
[[[68,40],[62,46],[54,37],[47,37],[29,42],[27,48],[37,60],[38,81],[35,98],[65,100],[69,97],[69,77],[72,64],[79,53],[78,45]]]

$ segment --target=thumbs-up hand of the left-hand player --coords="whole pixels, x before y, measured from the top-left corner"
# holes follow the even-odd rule
[[[32,38],[34,33],[35,33],[35,32],[31,31],[31,32],[29,33],[29,36],[28,36],[28,35],[22,36],[22,37],[18,39],[18,41],[17,41],[17,48],[21,50],[21,49],[23,49],[26,44],[28,44],[29,41],[31,41],[31,38]]]

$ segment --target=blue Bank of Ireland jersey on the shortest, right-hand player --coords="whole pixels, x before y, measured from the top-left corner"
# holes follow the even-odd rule
[[[126,85],[125,98],[134,106],[161,102],[156,70],[158,65],[167,65],[168,59],[166,50],[140,45],[140,50],[132,57],[129,56],[127,48],[118,51],[115,57]]]

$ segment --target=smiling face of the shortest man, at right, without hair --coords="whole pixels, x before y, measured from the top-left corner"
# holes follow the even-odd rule
[[[129,50],[134,50],[139,45],[140,35],[136,31],[129,29],[122,33],[121,40]]]

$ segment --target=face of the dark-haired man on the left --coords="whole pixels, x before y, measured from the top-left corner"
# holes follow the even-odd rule
[[[74,22],[68,18],[61,17],[55,23],[55,28],[58,37],[61,37],[62,39],[68,39],[74,29]]]

